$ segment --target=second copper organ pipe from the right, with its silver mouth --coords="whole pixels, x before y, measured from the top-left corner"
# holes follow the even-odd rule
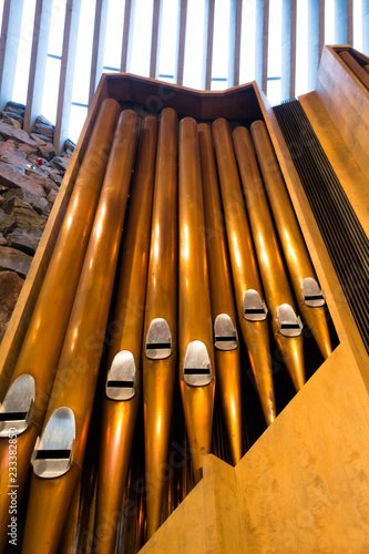
[[[298,391],[305,383],[301,321],[296,315],[250,135],[245,127],[237,127],[233,137],[273,331]]]

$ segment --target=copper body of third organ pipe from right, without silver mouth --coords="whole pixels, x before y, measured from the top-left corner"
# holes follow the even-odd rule
[[[233,284],[236,296],[238,321],[260,399],[264,418],[270,424],[276,418],[276,403],[270,365],[268,322],[246,319],[244,295],[256,290],[263,299],[263,290],[254,255],[229,126],[226,120],[213,123],[213,137],[219,172],[219,183],[228,239]]]

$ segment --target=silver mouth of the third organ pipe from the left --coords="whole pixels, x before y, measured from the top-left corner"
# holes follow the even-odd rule
[[[111,400],[130,400],[137,392],[137,371],[133,353],[121,350],[107,371],[105,393]]]

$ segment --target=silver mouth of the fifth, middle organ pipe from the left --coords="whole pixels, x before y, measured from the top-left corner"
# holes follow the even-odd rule
[[[183,362],[184,380],[192,387],[205,387],[213,378],[207,348],[201,340],[193,340],[187,346]]]

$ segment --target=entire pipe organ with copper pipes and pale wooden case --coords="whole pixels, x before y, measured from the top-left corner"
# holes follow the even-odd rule
[[[102,78],[1,347],[1,491],[9,428],[19,425],[20,485],[33,451],[24,552],[58,552],[61,542],[64,552],[136,552],[150,537],[143,552],[363,550],[369,94],[338,55],[348,50],[326,48],[317,91],[274,111],[255,83],[211,93]],[[111,298],[123,314],[115,328]],[[48,407],[40,391],[57,366]],[[299,370],[290,402],[286,366]],[[3,522],[4,492],[0,503]],[[3,544],[6,535],[2,523]]]

